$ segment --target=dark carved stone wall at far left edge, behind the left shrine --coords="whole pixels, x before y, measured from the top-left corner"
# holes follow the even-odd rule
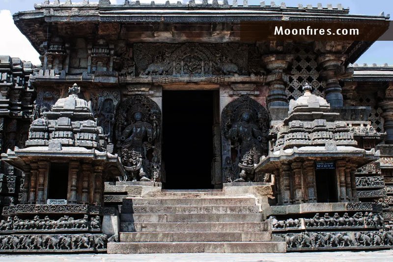
[[[23,148],[28,138],[30,116],[33,114],[34,89],[29,75],[35,66],[19,58],[0,56],[0,152],[15,146]],[[22,193],[24,174],[0,164],[0,207],[16,204]]]

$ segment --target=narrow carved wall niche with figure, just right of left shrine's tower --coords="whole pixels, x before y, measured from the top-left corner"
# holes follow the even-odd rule
[[[112,144],[114,119],[119,105],[120,92],[118,90],[100,90],[98,97],[98,125],[102,127],[108,143]]]

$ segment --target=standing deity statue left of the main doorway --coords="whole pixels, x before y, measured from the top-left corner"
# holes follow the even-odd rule
[[[142,119],[142,113],[136,112],[134,122],[123,130],[120,138],[123,167],[133,181],[138,181],[138,177],[140,181],[151,181],[144,170],[147,164],[147,143],[152,143],[155,136],[153,126]]]

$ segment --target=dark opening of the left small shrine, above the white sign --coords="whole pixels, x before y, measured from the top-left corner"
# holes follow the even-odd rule
[[[48,181],[48,199],[67,199],[68,164],[51,164]]]

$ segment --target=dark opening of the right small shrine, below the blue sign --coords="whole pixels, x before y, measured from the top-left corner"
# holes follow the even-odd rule
[[[338,202],[335,169],[315,171],[316,199],[318,203]]]

